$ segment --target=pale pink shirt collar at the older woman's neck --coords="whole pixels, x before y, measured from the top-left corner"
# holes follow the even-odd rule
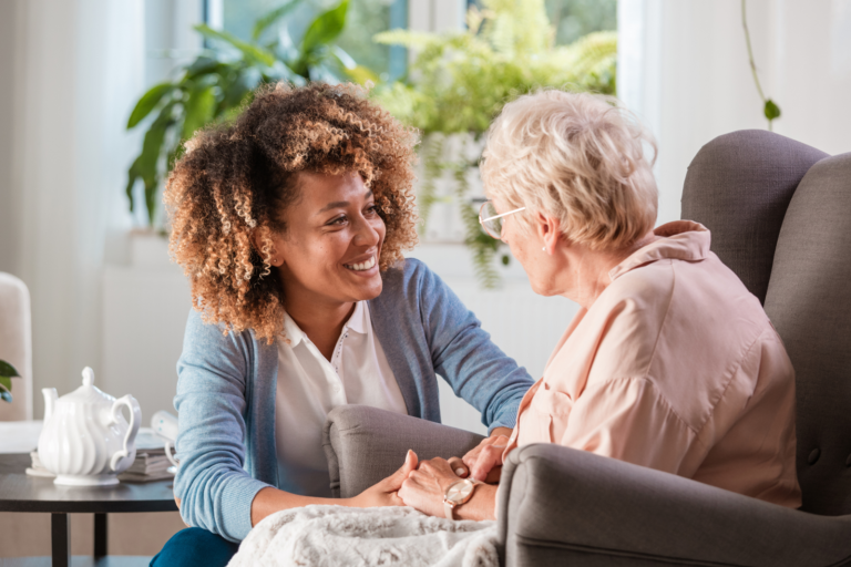
[[[655,243],[639,248],[624,261],[612,268],[608,277],[616,280],[629,270],[652,261],[673,258],[677,260],[703,260],[709,254],[711,240],[709,229],[700,223],[675,220],[654,229],[660,237]]]

